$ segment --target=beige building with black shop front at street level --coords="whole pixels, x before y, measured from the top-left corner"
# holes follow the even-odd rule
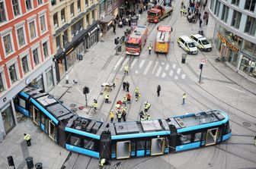
[[[99,40],[98,1],[52,0],[50,18],[59,82],[79,57]]]

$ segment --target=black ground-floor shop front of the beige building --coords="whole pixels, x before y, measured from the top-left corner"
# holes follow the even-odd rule
[[[74,36],[72,42],[66,43],[65,49],[59,49],[54,56],[53,61],[56,66],[56,80],[59,83],[66,72],[70,70],[79,59],[85,54],[85,51],[91,49],[99,41],[98,21],[91,24],[87,30],[81,30]]]

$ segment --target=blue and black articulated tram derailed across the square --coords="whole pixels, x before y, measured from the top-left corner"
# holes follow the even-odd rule
[[[30,117],[59,146],[107,160],[197,149],[224,142],[232,135],[229,116],[220,110],[108,124],[78,117],[35,86],[18,94],[15,109]]]

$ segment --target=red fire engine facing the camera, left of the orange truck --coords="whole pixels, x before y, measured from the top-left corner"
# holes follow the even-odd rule
[[[138,26],[126,40],[126,55],[140,55],[146,39],[148,38],[148,28]]]

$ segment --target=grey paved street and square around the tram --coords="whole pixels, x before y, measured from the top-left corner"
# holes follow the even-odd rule
[[[126,56],[123,51],[115,55],[114,38],[123,36],[126,27],[117,28],[116,35],[111,29],[104,35],[102,42],[94,45],[85,53],[83,60],[78,61],[69,71],[69,80],[78,80],[78,84],[66,84],[64,78],[51,94],[82,117],[109,121],[109,111],[114,108],[117,100],[126,94],[121,83],[128,81],[133,96],[136,87],[139,87],[142,93],[138,102],[132,98],[127,108],[128,120],[139,120],[139,111],[143,109],[144,102],[152,104],[149,111],[152,119],[209,109],[221,109],[229,114],[233,136],[221,145],[171,155],[111,161],[108,168],[115,168],[115,164],[119,165],[117,168],[133,169],[253,168],[256,166],[256,147],[253,141],[256,133],[256,85],[225,63],[216,63],[215,49],[212,52],[187,55],[186,64],[181,64],[184,50],[178,47],[178,36],[197,33],[199,23],[188,23],[187,18],[180,15],[181,4],[176,1],[173,5],[174,13],[170,17],[156,25],[149,25],[149,39],[139,57]],[[143,12],[139,23],[146,23],[146,12]],[[155,52],[148,54],[147,46],[149,43],[154,44],[158,25],[173,27],[168,55],[157,55]],[[208,26],[203,23],[203,31],[210,40],[213,39],[213,29],[214,23],[211,18]],[[201,58],[207,58],[207,61],[203,66],[202,83],[198,83]],[[123,75],[125,64],[130,65],[129,76]],[[116,88],[110,92],[110,104],[104,103],[101,84],[105,82],[116,83]],[[156,95],[158,84],[162,86],[160,97]],[[85,95],[82,94],[84,86],[90,88],[88,105],[92,104],[93,99],[98,99],[98,114],[94,114],[91,108],[78,109],[79,106],[85,105]],[[187,93],[186,105],[181,105],[184,92]],[[26,147],[21,145],[23,133],[31,133],[32,136],[32,146],[28,150],[22,149]],[[98,168],[98,159],[69,153],[46,137],[31,120],[24,120],[18,124],[4,142],[0,143],[0,149],[0,168],[8,168],[8,155],[14,155],[14,162],[19,165],[17,168],[26,168],[23,159],[28,155],[24,153],[34,157],[34,163],[43,162],[43,168]]]

